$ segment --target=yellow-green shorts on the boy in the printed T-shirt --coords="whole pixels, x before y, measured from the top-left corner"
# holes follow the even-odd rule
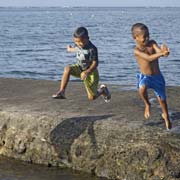
[[[71,67],[71,72],[70,74],[72,76],[81,77],[81,73],[82,70],[80,69],[78,64],[73,64],[70,66]],[[97,94],[97,89],[98,89],[98,83],[99,83],[99,73],[98,70],[94,70],[91,74],[88,75],[88,77],[83,80],[84,85],[86,87],[86,89],[88,90],[88,92],[92,95],[92,96],[96,96]]]

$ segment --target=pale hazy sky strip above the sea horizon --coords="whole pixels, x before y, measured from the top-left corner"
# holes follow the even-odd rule
[[[0,0],[0,6],[173,6],[180,0]]]

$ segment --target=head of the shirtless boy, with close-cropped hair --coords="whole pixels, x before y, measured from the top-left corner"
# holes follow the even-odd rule
[[[139,37],[144,38],[144,41],[149,40],[149,30],[145,24],[142,24],[142,23],[134,24],[131,28],[131,33],[135,40],[137,40],[137,38]]]

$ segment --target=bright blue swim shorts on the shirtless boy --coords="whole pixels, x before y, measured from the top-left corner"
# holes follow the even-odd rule
[[[138,81],[138,88],[145,85],[147,88],[153,89],[156,96],[160,97],[162,100],[166,99],[165,80],[161,73],[158,75],[144,75],[138,73],[136,78]]]

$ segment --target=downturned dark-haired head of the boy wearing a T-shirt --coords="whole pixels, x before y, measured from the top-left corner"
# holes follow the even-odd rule
[[[78,27],[74,32],[74,43],[83,48],[89,41],[88,30],[85,27]]]

